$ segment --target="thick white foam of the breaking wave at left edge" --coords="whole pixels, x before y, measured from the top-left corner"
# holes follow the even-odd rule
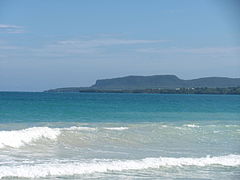
[[[60,134],[57,128],[32,127],[15,131],[0,131],[0,148],[18,148],[40,138],[56,139]]]

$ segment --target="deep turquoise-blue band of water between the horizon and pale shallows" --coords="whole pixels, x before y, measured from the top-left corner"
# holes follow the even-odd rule
[[[0,93],[0,122],[240,120],[238,95]]]

